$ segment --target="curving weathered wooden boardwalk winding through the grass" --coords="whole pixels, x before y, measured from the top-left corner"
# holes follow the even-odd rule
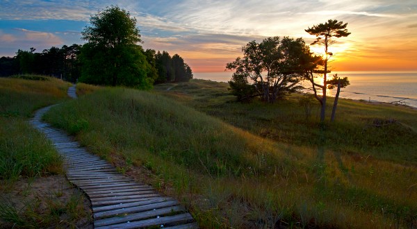
[[[70,87],[68,96],[75,99],[75,90]],[[65,159],[68,180],[90,198],[95,228],[198,228],[178,201],[118,173],[62,130],[42,122],[52,106],[38,110],[31,124],[53,142]]]

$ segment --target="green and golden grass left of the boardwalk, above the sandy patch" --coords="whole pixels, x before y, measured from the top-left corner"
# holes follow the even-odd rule
[[[26,77],[28,78],[28,77]],[[62,160],[28,117],[46,105],[65,101],[69,83],[45,76],[0,78],[0,179],[16,180],[62,170]],[[42,80],[38,80],[42,78]]]

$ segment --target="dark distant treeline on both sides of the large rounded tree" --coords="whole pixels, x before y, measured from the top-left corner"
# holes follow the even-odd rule
[[[35,52],[34,48],[29,51],[19,49],[14,57],[0,58],[0,76],[42,74],[76,82],[83,67],[79,60],[81,49],[80,44],[64,45],[62,48],[52,46],[41,53]],[[161,53],[154,49],[142,52],[150,66],[148,74],[155,79],[155,84],[183,82],[193,78],[193,71],[178,54],[171,57],[167,51]]]

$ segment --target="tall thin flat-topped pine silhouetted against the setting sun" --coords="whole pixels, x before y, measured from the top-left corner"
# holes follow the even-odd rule
[[[319,44],[325,47],[325,55],[322,58],[322,66],[323,69],[320,70],[310,70],[308,74],[306,74],[306,78],[311,82],[313,85],[314,95],[316,99],[320,102],[321,110],[320,110],[320,121],[325,121],[325,112],[326,112],[326,92],[327,92],[327,74],[330,72],[330,69],[327,67],[327,62],[329,58],[333,56],[332,52],[329,52],[329,46],[334,44],[336,41],[332,40],[332,37],[347,37],[350,33],[347,32],[346,29],[347,23],[343,24],[343,22],[338,22],[337,20],[329,19],[325,24],[318,24],[311,28],[306,29],[305,31],[311,35],[316,35],[316,40],[311,43],[311,45]],[[323,74],[323,84],[320,85],[314,82],[314,73]],[[316,87],[322,90],[322,96],[318,96]],[[338,88],[340,92],[340,88]],[[337,102],[335,103],[337,105]],[[334,108],[336,112],[336,108]]]

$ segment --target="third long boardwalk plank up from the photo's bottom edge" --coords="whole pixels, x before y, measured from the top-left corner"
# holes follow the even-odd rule
[[[142,205],[142,206],[136,206],[136,207],[125,207],[122,209],[117,209],[117,210],[108,210],[108,211],[104,211],[104,212],[94,212],[93,216],[94,219],[100,219],[100,218],[104,218],[104,217],[111,217],[117,214],[128,214],[128,213],[137,213],[137,212],[145,212],[148,210],[156,210],[158,208],[163,208],[163,207],[171,207],[174,205],[178,205],[177,201],[165,201],[165,202],[161,202],[161,203],[152,203],[152,204],[148,204],[148,205]]]

